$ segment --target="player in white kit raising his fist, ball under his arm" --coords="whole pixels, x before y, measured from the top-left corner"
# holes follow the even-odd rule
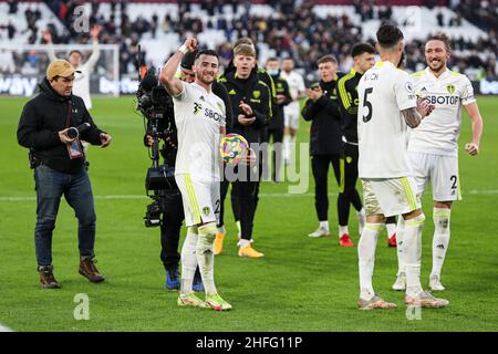
[[[211,90],[219,69],[215,51],[201,50],[196,54],[194,83],[175,77],[181,58],[196,48],[197,40],[188,38],[159,75],[175,104],[178,129],[175,180],[181,192],[188,228],[181,249],[181,284],[177,303],[180,306],[207,306],[220,311],[231,309],[218,294],[214,277],[214,242],[222,166],[218,146],[225,135],[226,107]],[[197,263],[206,291],[205,301],[197,298],[191,289]]]

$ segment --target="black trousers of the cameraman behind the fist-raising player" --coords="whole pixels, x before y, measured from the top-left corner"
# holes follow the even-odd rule
[[[165,269],[178,267],[180,253],[178,242],[181,223],[184,222],[184,205],[179,190],[162,196],[160,207],[163,217],[160,222],[160,260]]]

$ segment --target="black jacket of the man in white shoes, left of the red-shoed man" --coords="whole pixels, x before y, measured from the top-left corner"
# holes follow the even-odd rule
[[[342,146],[341,116],[336,101],[338,81],[320,81],[323,96],[317,102],[307,100],[302,108],[304,121],[312,121],[310,155],[340,154]]]

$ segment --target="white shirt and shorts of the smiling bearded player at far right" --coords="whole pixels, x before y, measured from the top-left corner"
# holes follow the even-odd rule
[[[434,200],[459,200],[458,137],[463,105],[476,102],[471,83],[448,69],[436,77],[428,67],[412,74],[412,81],[415,93],[436,106],[409,134],[408,158],[417,190],[424,194],[430,180]]]

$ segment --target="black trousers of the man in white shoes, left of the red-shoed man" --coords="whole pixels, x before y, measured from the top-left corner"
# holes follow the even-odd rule
[[[341,178],[340,155],[331,154],[311,156],[311,169],[314,177],[314,207],[317,209],[319,221],[325,221],[329,219],[328,178],[330,165],[332,165],[334,169],[334,176],[339,185]]]

